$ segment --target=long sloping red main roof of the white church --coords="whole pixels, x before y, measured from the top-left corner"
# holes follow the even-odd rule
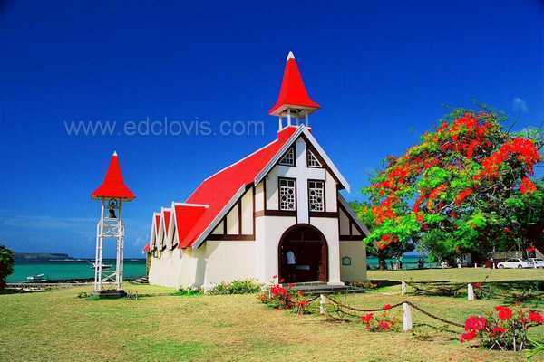
[[[296,129],[294,126],[282,129],[277,139],[264,148],[209,176],[185,201],[188,207],[175,206],[180,248],[192,246],[228,202],[240,190],[253,184],[258,173],[277,155]],[[190,205],[200,207],[189,207]]]

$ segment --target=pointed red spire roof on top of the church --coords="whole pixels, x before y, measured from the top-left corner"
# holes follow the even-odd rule
[[[281,116],[282,112],[287,109],[306,110],[308,113],[319,109],[319,104],[308,96],[293,52],[289,52],[289,55],[287,55],[287,63],[279,95],[277,96],[274,107],[268,110],[268,114],[271,116]]]

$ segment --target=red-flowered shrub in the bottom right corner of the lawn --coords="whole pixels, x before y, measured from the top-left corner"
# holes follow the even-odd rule
[[[480,338],[481,344],[490,349],[521,351],[529,347],[527,330],[544,324],[544,315],[536,310],[512,310],[497,306],[488,318],[470,316],[465,321],[461,343]]]

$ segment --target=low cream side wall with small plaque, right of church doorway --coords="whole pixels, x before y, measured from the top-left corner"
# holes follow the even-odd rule
[[[342,258],[344,257],[349,258],[351,265],[343,265]],[[366,276],[366,248],[363,242],[340,242],[340,279],[342,281],[368,281]]]

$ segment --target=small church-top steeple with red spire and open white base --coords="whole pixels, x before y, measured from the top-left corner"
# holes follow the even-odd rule
[[[278,117],[278,130],[292,126],[293,123],[299,124],[301,119],[304,119],[308,127],[308,115],[319,108],[319,104],[312,100],[306,91],[295,55],[289,52],[276,104],[268,110],[268,114]],[[285,126],[284,118],[287,119]]]

